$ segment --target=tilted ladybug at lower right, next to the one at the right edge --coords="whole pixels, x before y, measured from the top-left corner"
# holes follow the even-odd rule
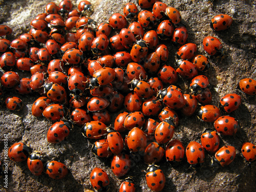
[[[222,167],[229,165],[236,157],[236,148],[233,146],[223,146],[215,154],[215,158]]]

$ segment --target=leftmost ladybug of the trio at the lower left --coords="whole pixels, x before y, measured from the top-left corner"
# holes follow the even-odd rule
[[[8,150],[8,157],[15,162],[25,161],[29,156],[29,147],[22,143],[14,143]]]

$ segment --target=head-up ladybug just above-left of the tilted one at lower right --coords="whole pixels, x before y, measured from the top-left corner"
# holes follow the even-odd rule
[[[216,131],[206,129],[201,135],[201,143],[204,147],[204,150],[210,154],[214,154],[219,149],[220,137]]]

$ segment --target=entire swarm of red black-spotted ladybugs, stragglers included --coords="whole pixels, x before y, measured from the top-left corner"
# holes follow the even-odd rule
[[[164,155],[167,161],[178,163],[185,154],[182,142],[172,139],[179,124],[176,110],[191,116],[201,103],[198,117],[204,122],[214,122],[216,129],[202,134],[202,145],[196,141],[187,145],[188,163],[199,167],[204,162],[205,150],[215,154],[212,165],[226,166],[236,156],[236,149],[233,146],[219,149],[217,132],[234,135],[239,123],[233,117],[221,116],[220,110],[226,113],[237,110],[241,97],[228,94],[221,98],[219,108],[210,105],[209,80],[199,75],[209,69],[210,63],[204,55],[197,55],[195,44],[185,44],[188,33],[181,24],[179,11],[154,0],[139,0],[138,3],[147,10],[138,13],[135,4],[127,3],[123,15],[114,13],[109,23],[98,27],[88,17],[92,13],[88,1],[81,1],[75,10],[69,0],[59,6],[49,3],[46,13],[31,21],[29,33],[13,41],[0,39],[1,68],[8,70],[2,75],[1,84],[4,89],[14,89],[19,94],[34,91],[42,95],[33,103],[32,114],[56,121],[47,134],[50,143],[64,140],[73,123],[82,126],[86,138],[97,140],[92,147],[94,154],[101,158],[114,154],[111,168],[118,178],[129,172],[133,156],[143,156],[144,162],[150,164],[146,174],[148,187],[161,191],[165,176],[155,163]],[[148,11],[151,7],[152,12]],[[129,27],[127,21],[131,22]],[[230,16],[221,14],[211,20],[210,26],[220,31],[229,28],[231,23]],[[109,38],[113,29],[116,35]],[[1,36],[11,33],[8,26],[0,26]],[[180,47],[176,69],[163,64],[169,52],[164,44],[159,44],[161,40],[170,40]],[[222,44],[216,37],[205,37],[203,46],[210,56],[223,54]],[[19,79],[17,73],[10,71],[15,66],[18,70],[30,71],[31,78]],[[183,94],[173,85],[179,77],[192,79],[191,94]],[[171,86],[163,89],[167,84]],[[255,95],[256,81],[242,79],[239,88],[248,95]],[[22,109],[22,100],[17,97],[8,97],[5,101],[10,110]],[[111,113],[120,111],[123,105],[128,112],[122,110],[111,129],[107,126]],[[71,121],[61,120],[63,117]],[[45,172],[54,179],[61,179],[68,174],[64,164],[44,163],[39,152],[29,154],[29,151],[26,144],[19,142],[9,148],[8,155],[16,162],[29,157],[28,167],[34,175]],[[247,161],[255,160],[255,145],[244,143],[242,153]],[[90,179],[94,189],[108,188],[109,177],[103,169],[94,168]],[[135,191],[130,177],[121,184],[119,191]]]

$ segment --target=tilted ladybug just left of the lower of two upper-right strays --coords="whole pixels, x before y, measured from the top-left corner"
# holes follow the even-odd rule
[[[183,60],[189,60],[196,55],[197,45],[196,44],[185,44],[177,51],[177,57]]]

